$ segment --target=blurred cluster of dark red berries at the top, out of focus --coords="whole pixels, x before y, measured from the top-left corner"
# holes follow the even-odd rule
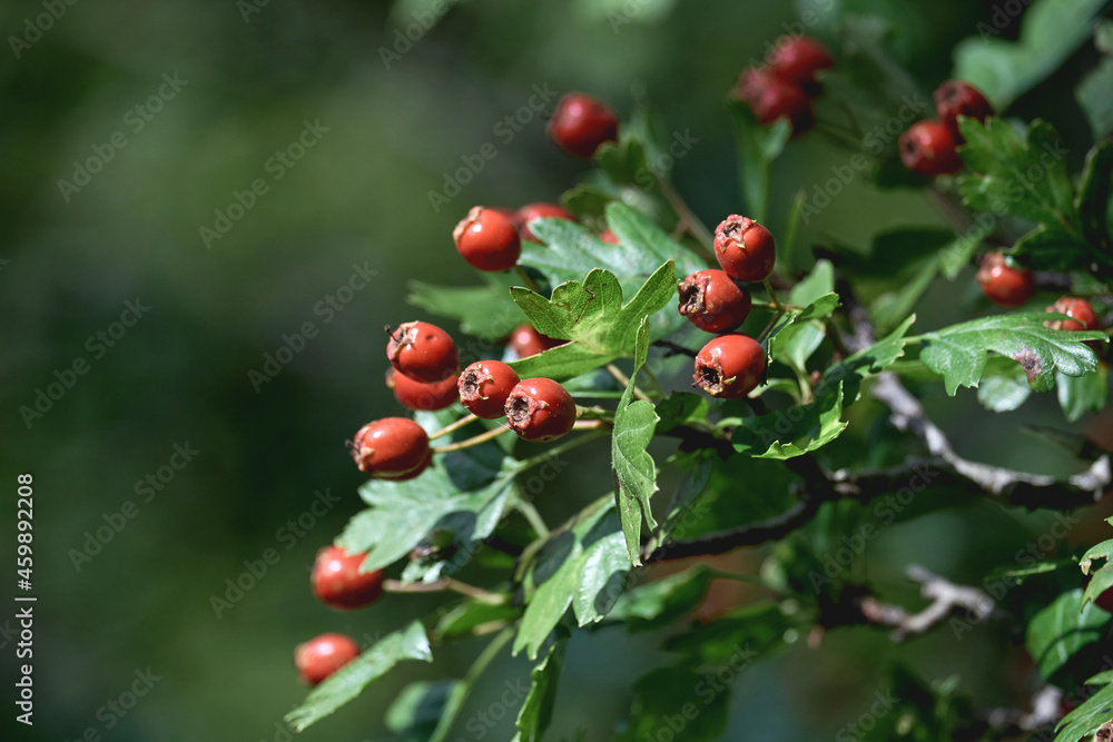
[[[735,88],[762,126],[777,119],[792,123],[792,136],[811,128],[811,101],[823,92],[816,73],[834,66],[821,43],[807,37],[788,37],[771,49],[761,67],[742,70]]]

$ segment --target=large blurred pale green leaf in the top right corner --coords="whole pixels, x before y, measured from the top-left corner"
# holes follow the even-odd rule
[[[1058,69],[1090,36],[1104,0],[1035,0],[1021,20],[1017,41],[999,38],[1011,18],[1004,11],[977,24],[977,36],[955,49],[955,73],[982,90],[997,110]],[[999,24],[998,24],[999,23]],[[994,38],[998,37],[998,38]]]

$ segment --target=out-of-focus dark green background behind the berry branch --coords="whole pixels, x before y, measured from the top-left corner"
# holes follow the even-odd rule
[[[39,597],[36,724],[12,721],[6,683],[2,729],[6,739],[76,740],[92,728],[118,742],[157,742],[285,739],[282,716],[305,693],[295,681],[295,644],[323,631],[365,644],[436,604],[395,596],[334,613],[309,594],[308,566],[359,509],[361,476],[345,438],[368,419],[401,414],[383,385],[382,328],[420,316],[404,304],[405,281],[475,283],[450,237],[467,208],[556,200],[583,171],[545,140],[541,115],[509,138],[496,128],[535,89],[585,90],[623,113],[636,91],[644,95],[668,130],[698,138],[672,176],[715,224],[739,208],[725,95],[784,23],[815,10],[820,21],[809,30],[831,41],[827,21],[836,13],[878,14],[890,24],[894,56],[930,90],[951,72],[949,50],[976,33],[994,3],[471,0],[449,3],[427,31],[422,19],[443,3],[55,4],[60,14],[41,38],[28,34],[27,19],[50,2],[0,7],[8,38],[0,53],[0,493],[9,502],[0,527],[13,543],[14,477],[30,472]],[[416,40],[400,42],[407,29]],[[1092,51],[1080,51],[1062,79],[1092,61]],[[1070,86],[1054,77],[1011,112],[1048,118],[1067,140],[1085,131]],[[292,148],[299,138],[312,146]],[[434,210],[429,192],[487,141],[498,156]],[[288,164],[273,159],[286,150]],[[90,158],[100,160],[89,166],[97,172],[75,172]],[[794,142],[778,164],[774,211],[845,158],[818,137]],[[257,179],[266,191],[245,196]],[[237,194],[248,208],[234,206]],[[217,211],[239,218],[223,224]],[[883,194],[861,178],[801,239],[865,246],[902,224],[943,220],[918,194]],[[203,227],[230,229],[206,239]],[[368,271],[364,288],[337,294]],[[925,327],[979,306],[968,278],[929,293],[919,308]],[[349,300],[329,306],[331,296]],[[148,307],[134,323],[129,301]],[[267,373],[267,354],[305,323],[316,335],[294,340],[301,348],[289,363],[253,384],[249,373]],[[86,373],[67,373],[75,362]],[[933,408],[962,428],[956,445],[971,457],[1063,466],[1038,442],[1003,443],[1020,423],[1061,421],[1050,395],[972,425],[973,394],[948,400],[937,386]],[[49,408],[39,398],[41,414],[30,414],[40,390],[58,398]],[[176,446],[196,452],[179,469]],[[148,475],[161,476],[160,488],[137,491]],[[551,492],[601,492],[592,479],[600,475],[602,466],[565,474]],[[307,517],[316,492],[337,502]],[[134,517],[76,564],[87,533],[121,523],[128,501]],[[552,521],[575,505],[538,502]],[[298,531],[288,530],[299,516]],[[915,601],[900,576],[905,562],[976,581],[977,560],[1007,561],[1040,527],[986,507],[894,526],[871,546],[893,566],[874,576]],[[267,548],[279,562],[218,617],[210,597]],[[11,613],[0,612],[9,669]],[[1001,679],[1022,660],[993,636],[959,644],[942,632],[899,653],[929,680],[958,673],[986,704],[1017,702],[1024,689]],[[610,739],[633,679],[663,662],[654,646],[613,630],[578,635],[552,739],[581,725],[589,740]],[[833,734],[868,708],[897,650],[876,631],[838,632],[824,646],[799,646],[743,676],[723,739]],[[403,666],[303,736],[390,739],[382,716],[397,689],[460,676],[476,652],[464,644],[435,665]],[[134,709],[122,716],[102,710],[148,667],[160,680]],[[526,676],[523,662],[500,661],[462,719],[495,709],[504,683]],[[455,739],[510,739],[515,714],[516,705],[493,726],[462,723]]]

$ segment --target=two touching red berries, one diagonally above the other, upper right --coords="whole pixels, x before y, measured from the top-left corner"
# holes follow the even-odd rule
[[[935,177],[963,169],[958,146],[965,139],[958,131],[958,117],[985,121],[993,106],[968,82],[947,80],[935,90],[937,119],[917,121],[900,135],[900,161],[913,172]]]

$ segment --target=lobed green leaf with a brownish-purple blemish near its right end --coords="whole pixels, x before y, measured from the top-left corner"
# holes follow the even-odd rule
[[[1055,372],[1081,376],[1097,367],[1083,340],[1105,339],[1104,333],[1068,333],[1044,326],[1047,314],[1032,311],[983,317],[925,333],[920,359],[943,376],[947,394],[977,386],[993,352],[1020,363],[1036,392],[1052,388]]]

